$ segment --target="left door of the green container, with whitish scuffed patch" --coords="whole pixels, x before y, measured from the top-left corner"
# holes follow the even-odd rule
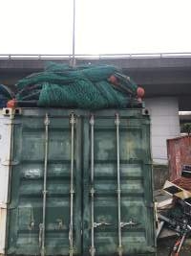
[[[81,122],[23,111],[13,125],[7,252],[80,255]]]

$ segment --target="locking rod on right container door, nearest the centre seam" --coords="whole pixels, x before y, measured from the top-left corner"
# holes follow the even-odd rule
[[[94,115],[90,119],[91,125],[91,256],[95,256],[95,189],[94,189],[94,175],[95,175],[95,118]]]

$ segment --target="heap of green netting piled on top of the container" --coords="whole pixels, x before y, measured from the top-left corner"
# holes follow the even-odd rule
[[[135,98],[138,88],[114,66],[72,68],[53,62],[48,63],[43,72],[18,81],[16,86],[18,101],[36,101],[39,106],[89,109],[125,107]]]

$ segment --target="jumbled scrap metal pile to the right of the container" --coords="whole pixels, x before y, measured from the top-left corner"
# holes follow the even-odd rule
[[[168,198],[157,203],[158,237],[163,226],[178,235],[170,256],[180,255],[182,244],[191,237],[191,167],[183,167],[181,175],[173,182],[165,182],[163,192]]]

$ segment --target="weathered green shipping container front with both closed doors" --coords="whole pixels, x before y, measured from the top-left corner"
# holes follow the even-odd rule
[[[156,255],[144,109],[14,112],[6,254]]]

